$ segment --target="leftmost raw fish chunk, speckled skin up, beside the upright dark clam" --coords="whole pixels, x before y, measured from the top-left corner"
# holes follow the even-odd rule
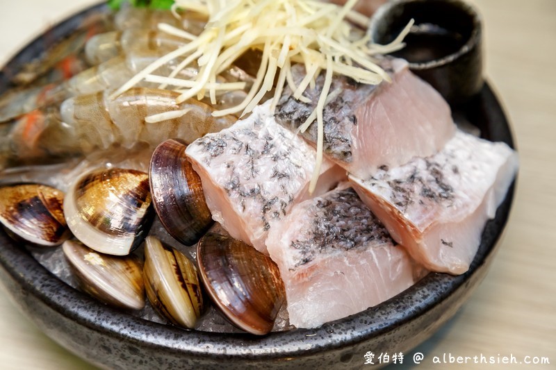
[[[309,197],[315,150],[276,123],[270,103],[247,119],[191,143],[186,153],[202,180],[213,219],[235,239],[266,253],[268,230]],[[327,192],[345,170],[325,161],[314,195]]]

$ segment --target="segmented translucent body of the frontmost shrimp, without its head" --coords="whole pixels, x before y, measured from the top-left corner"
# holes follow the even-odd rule
[[[63,121],[79,128],[90,142],[106,149],[114,143],[131,148],[137,142],[156,146],[171,137],[193,142],[206,133],[221,131],[234,123],[234,117],[213,117],[215,108],[190,99],[177,104],[179,93],[136,87],[113,101],[104,93],[76,96],[60,107]],[[188,110],[185,115],[149,124],[145,117],[172,110]],[[97,140],[90,135],[98,134]]]

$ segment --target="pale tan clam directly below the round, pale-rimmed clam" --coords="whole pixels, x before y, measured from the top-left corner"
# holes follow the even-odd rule
[[[135,255],[98,253],[76,240],[67,240],[62,248],[85,292],[120,308],[140,310],[145,306],[142,263]]]

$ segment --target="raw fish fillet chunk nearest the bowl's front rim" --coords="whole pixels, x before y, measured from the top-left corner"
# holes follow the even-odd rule
[[[296,205],[270,230],[270,258],[286,287],[290,323],[315,328],[366,310],[424,276],[345,183]]]

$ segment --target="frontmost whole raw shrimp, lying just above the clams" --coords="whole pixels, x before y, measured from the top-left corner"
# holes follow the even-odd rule
[[[0,166],[113,146],[146,144],[154,148],[170,138],[193,142],[236,121],[232,116],[213,117],[218,106],[195,99],[177,104],[179,93],[170,90],[135,87],[114,100],[106,95],[98,92],[76,96],[65,100],[60,109],[47,106],[20,117],[0,139]],[[145,117],[154,117],[155,121],[149,123]]]

